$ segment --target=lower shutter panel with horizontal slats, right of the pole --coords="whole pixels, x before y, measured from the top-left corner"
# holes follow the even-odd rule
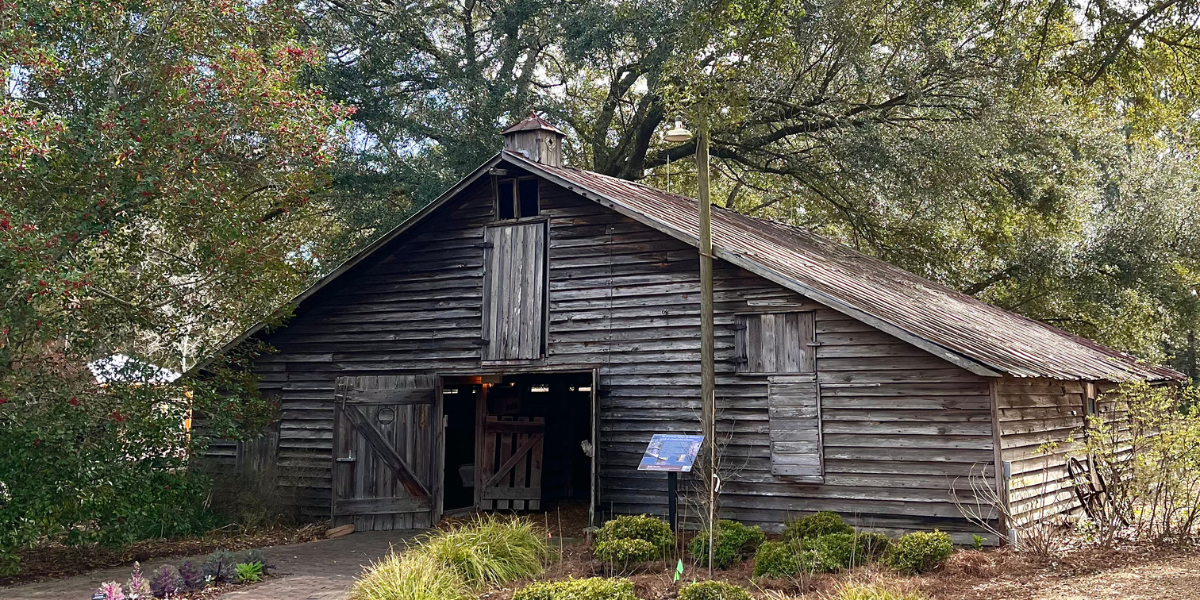
[[[772,475],[821,482],[821,400],[816,376],[775,376],[768,386]]]

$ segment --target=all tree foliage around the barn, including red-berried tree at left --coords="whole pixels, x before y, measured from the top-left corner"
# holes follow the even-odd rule
[[[695,149],[662,132],[703,116],[719,204],[1194,376],[1198,18],[1200,0],[0,0],[0,568],[47,539],[203,527],[181,416],[254,434],[272,409],[239,358],[190,398],[142,367],[186,371],[284,317],[528,110],[568,131],[571,164],[670,172],[682,193]],[[115,353],[140,374],[100,386],[86,365]]]

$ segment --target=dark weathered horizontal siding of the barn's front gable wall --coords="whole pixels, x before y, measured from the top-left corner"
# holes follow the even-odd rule
[[[268,336],[263,386],[283,401],[282,481],[328,512],[334,380],[340,374],[480,371],[484,228],[476,185],[310,299]],[[665,476],[640,473],[649,436],[696,431],[696,251],[552,184],[547,367],[600,371],[601,509],[666,512]],[[948,488],[994,460],[989,380],[742,269],[715,265],[722,515],[779,529],[835,510],[866,527],[972,529]],[[823,484],[772,474],[767,374],[738,374],[738,314],[814,311]]]

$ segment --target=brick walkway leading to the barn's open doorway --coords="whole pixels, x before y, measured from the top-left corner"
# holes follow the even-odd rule
[[[342,600],[362,565],[388,553],[391,545],[402,546],[415,532],[365,532],[336,540],[272,546],[263,548],[275,565],[276,576],[264,583],[235,588],[222,600]],[[196,559],[197,557],[192,557]],[[203,557],[200,557],[203,558]],[[182,558],[169,560],[173,564]],[[143,572],[168,560],[150,560]],[[0,588],[4,600],[88,600],[103,581],[126,581],[128,568],[104,569],[65,580],[43,581]]]

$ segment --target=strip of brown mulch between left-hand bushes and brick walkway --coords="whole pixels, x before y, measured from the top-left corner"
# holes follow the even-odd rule
[[[0,577],[0,586],[30,583],[47,578],[70,577],[96,569],[146,563],[158,558],[208,554],[215,550],[247,550],[282,544],[300,544],[325,538],[325,523],[304,526],[271,526],[245,529],[230,526],[215,529],[199,538],[142,540],[124,548],[100,546],[46,545],[23,550],[22,572]]]

